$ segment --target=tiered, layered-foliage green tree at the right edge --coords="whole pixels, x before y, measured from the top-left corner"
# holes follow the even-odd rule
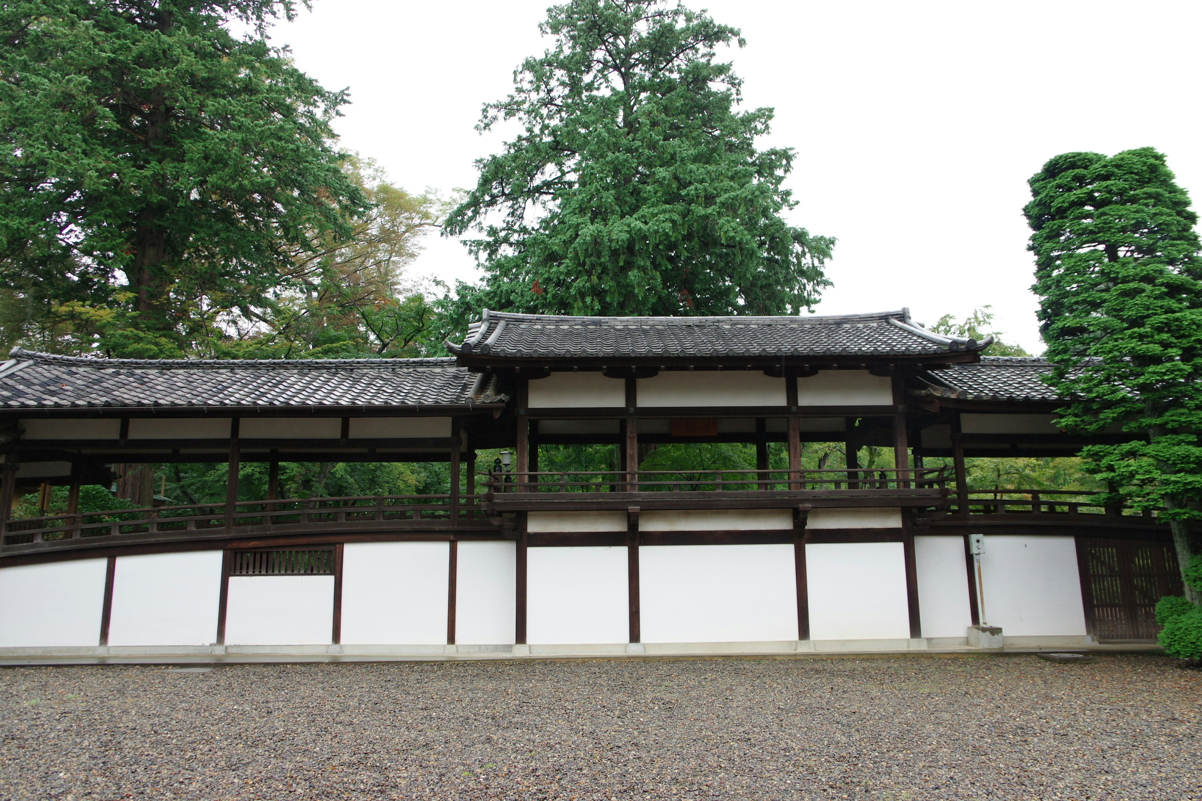
[[[1189,195],[1152,148],[1069,153],[1025,207],[1060,425],[1120,429],[1082,455],[1136,508],[1161,509],[1184,569],[1202,519],[1202,258]],[[1190,590],[1195,603],[1202,600]]]

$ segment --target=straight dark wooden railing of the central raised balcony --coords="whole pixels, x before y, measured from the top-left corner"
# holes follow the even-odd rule
[[[641,470],[482,473],[488,498],[511,492],[946,490],[946,468]]]

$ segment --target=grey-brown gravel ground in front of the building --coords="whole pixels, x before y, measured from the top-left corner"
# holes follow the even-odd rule
[[[0,670],[2,799],[1200,799],[1202,673],[1033,656]]]

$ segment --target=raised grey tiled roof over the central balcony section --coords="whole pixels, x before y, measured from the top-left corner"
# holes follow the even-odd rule
[[[976,342],[934,334],[909,310],[833,317],[558,317],[484,311],[462,359],[780,359],[923,357],[980,351]]]

